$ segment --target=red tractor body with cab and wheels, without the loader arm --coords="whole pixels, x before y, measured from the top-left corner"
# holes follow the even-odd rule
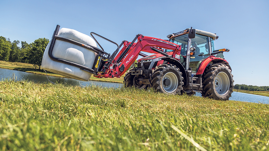
[[[167,38],[171,44],[180,45],[181,50],[153,47],[163,52],[139,59],[137,67],[124,77],[126,87],[153,87],[166,94],[194,95],[200,92],[203,97],[222,100],[231,97],[232,69],[223,58],[223,52],[229,52],[229,49],[215,50],[216,34],[186,29]]]

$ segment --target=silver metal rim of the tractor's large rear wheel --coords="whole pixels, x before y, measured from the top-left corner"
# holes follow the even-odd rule
[[[230,79],[225,72],[220,72],[215,78],[215,89],[219,95],[225,95],[228,93]]]

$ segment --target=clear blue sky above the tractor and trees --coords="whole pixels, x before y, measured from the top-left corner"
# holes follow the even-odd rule
[[[269,86],[269,1],[0,1],[0,36],[32,43],[51,39],[57,24],[116,43],[136,34],[167,39],[191,26],[216,33],[227,48],[234,84]],[[107,47],[112,53],[115,49]]]

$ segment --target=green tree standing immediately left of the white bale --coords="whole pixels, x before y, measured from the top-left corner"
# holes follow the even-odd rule
[[[42,57],[48,43],[49,43],[49,39],[46,39],[46,38],[39,38],[35,40],[33,43],[31,43],[31,49],[29,53],[30,54],[29,63],[35,66],[35,70],[36,70],[36,66],[39,66],[39,70],[40,70]]]

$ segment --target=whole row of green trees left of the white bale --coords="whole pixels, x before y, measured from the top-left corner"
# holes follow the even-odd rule
[[[20,41],[11,42],[9,38],[0,36],[0,60],[30,63],[35,66],[35,70],[37,66],[40,70],[42,57],[48,43],[49,39],[39,38],[30,44],[21,41],[21,47],[19,47]]]

